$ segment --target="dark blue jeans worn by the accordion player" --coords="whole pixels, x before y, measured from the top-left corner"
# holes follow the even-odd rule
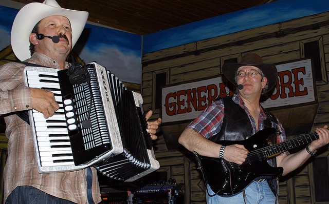
[[[8,196],[5,204],[74,204],[74,202],[49,195],[30,186],[19,186]]]

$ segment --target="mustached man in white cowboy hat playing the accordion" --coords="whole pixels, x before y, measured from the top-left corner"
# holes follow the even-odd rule
[[[88,13],[61,8],[55,0],[30,3],[17,13],[11,32],[11,46],[22,61],[56,69],[65,62],[76,44]],[[29,48],[30,47],[30,48]],[[5,116],[8,158],[4,172],[6,203],[98,203],[101,201],[97,172],[79,171],[40,174],[34,157],[31,127],[17,112],[38,110],[48,118],[59,105],[51,92],[26,87],[22,63],[0,67],[0,115]],[[150,118],[152,111],[147,113]],[[148,132],[156,139],[159,118],[149,122]]]

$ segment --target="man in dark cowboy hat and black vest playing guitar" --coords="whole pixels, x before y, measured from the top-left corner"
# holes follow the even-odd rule
[[[245,140],[260,130],[271,127],[277,130],[276,142],[285,140],[285,132],[279,120],[259,103],[261,94],[276,85],[278,73],[274,65],[264,64],[262,58],[254,53],[243,55],[240,63],[224,64],[223,73],[237,87],[236,94],[214,101],[182,132],[178,141],[189,151],[195,151],[199,155],[242,165],[249,153],[244,145],[232,142],[233,145],[224,146],[216,142]],[[305,149],[295,154],[281,153],[268,160],[268,164],[283,167],[283,175],[299,168],[317,149],[329,143],[327,126],[317,128],[316,132],[319,139],[312,141]],[[220,174],[219,171],[217,174]],[[219,191],[214,192],[208,184],[207,203],[276,203],[278,183],[275,181],[277,180],[258,177],[243,191],[231,195],[218,195]],[[227,182],[228,185],[231,181]]]

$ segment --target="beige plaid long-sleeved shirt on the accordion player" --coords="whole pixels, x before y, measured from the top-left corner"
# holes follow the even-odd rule
[[[29,63],[59,69],[55,60],[34,53]],[[67,65],[66,65],[67,66]],[[8,158],[4,171],[4,200],[17,186],[32,186],[50,195],[76,203],[87,203],[86,169],[80,171],[40,174],[36,168],[31,127],[15,111],[30,110],[30,89],[23,84],[21,63],[8,63],[0,67],[0,114],[6,115]],[[93,199],[101,201],[97,171],[93,171]]]

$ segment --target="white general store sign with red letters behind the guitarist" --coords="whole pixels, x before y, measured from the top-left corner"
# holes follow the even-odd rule
[[[282,107],[315,101],[310,59],[276,65],[277,86],[264,102],[264,108]],[[222,76],[162,88],[163,123],[196,118],[217,96],[233,92],[225,86]]]

